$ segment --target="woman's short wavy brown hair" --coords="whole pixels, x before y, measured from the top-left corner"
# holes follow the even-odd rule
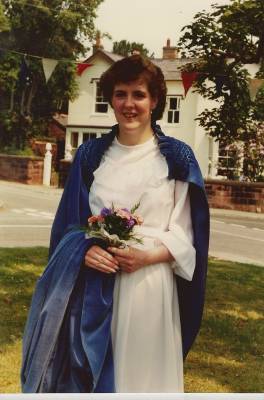
[[[148,58],[133,54],[115,62],[102,74],[99,86],[111,104],[117,83],[133,82],[140,77],[145,80],[151,97],[157,99],[157,105],[152,111],[152,120],[161,119],[166,105],[167,87],[161,69]]]

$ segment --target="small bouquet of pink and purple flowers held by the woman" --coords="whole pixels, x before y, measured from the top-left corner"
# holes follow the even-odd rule
[[[107,245],[120,248],[127,247],[128,241],[142,243],[142,239],[133,232],[134,226],[143,223],[143,219],[135,214],[139,204],[130,211],[127,208],[116,208],[113,204],[110,208],[102,208],[99,215],[88,218],[86,237],[100,238]]]

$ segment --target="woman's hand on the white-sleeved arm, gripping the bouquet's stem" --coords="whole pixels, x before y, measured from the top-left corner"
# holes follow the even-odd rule
[[[125,249],[108,247],[107,250],[114,255],[122,272],[134,272],[148,265],[148,251],[139,250],[135,247]]]

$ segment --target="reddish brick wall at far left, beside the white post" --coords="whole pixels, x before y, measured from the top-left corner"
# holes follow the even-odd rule
[[[41,157],[0,154],[0,179],[42,185],[43,164]]]

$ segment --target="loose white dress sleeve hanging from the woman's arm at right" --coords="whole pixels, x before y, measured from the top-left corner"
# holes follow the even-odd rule
[[[174,261],[171,262],[174,273],[191,281],[195,268],[196,251],[193,247],[188,189],[188,182],[176,181],[175,207],[170,217],[169,229],[162,233],[159,239],[174,258]]]

